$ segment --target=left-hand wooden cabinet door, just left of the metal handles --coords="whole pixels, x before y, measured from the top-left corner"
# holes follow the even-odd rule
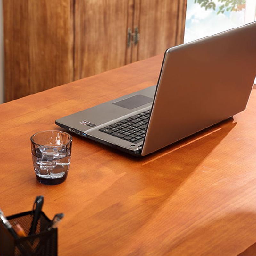
[[[74,77],[126,63],[128,0],[75,0]]]

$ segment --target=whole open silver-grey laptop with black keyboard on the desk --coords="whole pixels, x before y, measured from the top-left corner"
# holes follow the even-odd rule
[[[166,50],[156,86],[56,120],[145,156],[243,111],[256,76],[256,22]]]

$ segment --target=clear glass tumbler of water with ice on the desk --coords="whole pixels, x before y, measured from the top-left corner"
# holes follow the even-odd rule
[[[37,181],[56,185],[66,180],[72,137],[66,132],[49,130],[35,133],[30,140]]]

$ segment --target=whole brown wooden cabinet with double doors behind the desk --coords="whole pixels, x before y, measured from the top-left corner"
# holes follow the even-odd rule
[[[186,0],[3,0],[3,12],[9,101],[181,44]]]

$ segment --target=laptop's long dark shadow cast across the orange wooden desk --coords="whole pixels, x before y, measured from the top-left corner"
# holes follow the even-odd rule
[[[87,234],[78,245],[84,255],[122,254],[124,246],[136,244],[140,232],[235,125],[230,118],[141,159],[121,153],[104,155],[106,161],[99,168],[111,170],[119,178],[109,187],[99,188],[99,195],[79,212]],[[129,160],[129,168],[120,170],[120,157]]]

